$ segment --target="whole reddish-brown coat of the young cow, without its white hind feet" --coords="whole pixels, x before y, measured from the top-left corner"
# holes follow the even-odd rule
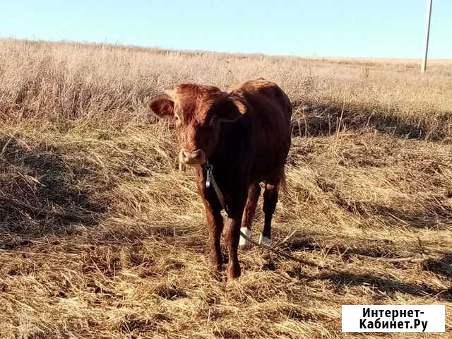
[[[157,96],[148,107],[160,117],[174,117],[181,152],[196,167],[198,191],[206,208],[210,234],[210,261],[222,266],[220,235],[229,251],[228,278],[240,275],[237,258],[239,229],[251,220],[265,183],[263,235],[270,237],[270,223],[284,183],[284,165],[290,148],[292,105],[278,85],[258,79],[232,87],[230,93],[206,85],[177,85],[170,96]],[[172,107],[168,114],[168,107]],[[181,154],[182,154],[181,153]],[[202,156],[201,156],[202,155]],[[185,157],[181,155],[183,159]],[[186,159],[185,159],[186,160]],[[222,206],[212,187],[206,187],[205,161],[227,204],[223,225]]]

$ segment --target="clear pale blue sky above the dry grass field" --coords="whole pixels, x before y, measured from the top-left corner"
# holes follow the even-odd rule
[[[433,2],[429,57],[451,59],[452,1]],[[0,37],[420,58],[426,11],[426,0],[5,0]]]

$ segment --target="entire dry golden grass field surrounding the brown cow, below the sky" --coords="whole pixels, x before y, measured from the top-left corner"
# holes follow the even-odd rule
[[[342,304],[446,304],[410,338],[450,338],[452,62],[429,66],[0,40],[0,338],[355,338]],[[258,77],[295,107],[273,242],[299,261],[242,250],[226,283],[143,103]]]

